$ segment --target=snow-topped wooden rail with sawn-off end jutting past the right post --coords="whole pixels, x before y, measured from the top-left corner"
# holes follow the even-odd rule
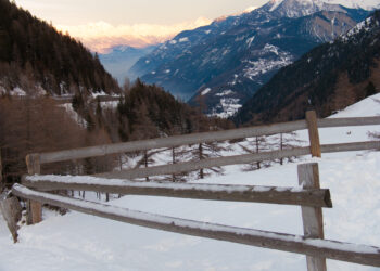
[[[25,176],[22,183],[38,191],[77,190],[128,195],[332,207],[330,191],[327,189],[104,181],[100,178],[80,176]]]

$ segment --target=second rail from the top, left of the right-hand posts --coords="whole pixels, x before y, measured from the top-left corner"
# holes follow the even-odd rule
[[[309,154],[309,147],[295,147],[292,150],[273,151],[264,153],[233,155],[218,158],[207,158],[202,160],[155,166],[150,168],[128,169],[107,173],[94,175],[94,177],[106,179],[137,179],[150,176],[175,175],[181,172],[195,171],[202,168],[223,167],[228,165],[242,165],[262,160],[274,160],[291,156],[302,156]]]

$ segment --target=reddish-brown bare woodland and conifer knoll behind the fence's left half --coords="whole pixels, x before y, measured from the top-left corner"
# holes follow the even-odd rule
[[[0,96],[0,191],[26,173],[25,156],[132,140],[228,129],[232,122],[208,118],[156,86],[140,80],[110,104],[77,93],[71,114],[49,96]],[[69,106],[71,107],[71,106]],[[100,157],[42,170],[55,173],[96,173],[118,166],[118,157]]]

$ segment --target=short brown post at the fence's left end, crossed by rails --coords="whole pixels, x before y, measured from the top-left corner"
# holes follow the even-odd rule
[[[28,169],[28,175],[40,175],[41,165],[39,154],[29,154],[26,156],[26,166]],[[36,224],[42,221],[42,205],[37,202],[27,201],[27,223]]]

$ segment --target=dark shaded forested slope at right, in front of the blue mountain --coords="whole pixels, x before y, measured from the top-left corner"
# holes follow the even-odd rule
[[[315,108],[320,117],[380,91],[380,11],[333,43],[282,68],[244,104],[238,124],[293,120]]]

